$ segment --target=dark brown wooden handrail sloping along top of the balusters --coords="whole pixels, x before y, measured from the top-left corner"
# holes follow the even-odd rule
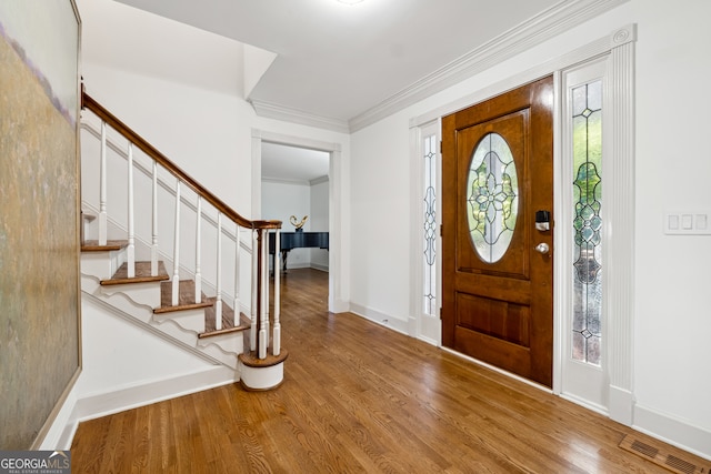
[[[143,153],[149,155],[151,159],[156,160],[158,164],[163,167],[168,172],[170,172],[173,177],[178,178],[183,183],[188,184],[190,189],[192,189],[196,193],[202,196],[206,201],[212,204],[219,212],[227,215],[233,222],[237,222],[240,226],[246,229],[281,229],[281,221],[250,221],[249,219],[244,219],[232,208],[227,205],[222,200],[212,194],[206,188],[202,186],[198,181],[196,181],[192,177],[181,170],[176,163],[170,161],[163,153],[158,151],[153,145],[151,145],[148,141],[146,141],[141,135],[136,133],[132,129],[130,129],[126,123],[119,120],[116,115],[109,112],[103,105],[97,102],[91,95],[82,90],[81,94],[81,108],[89,109],[97,117],[108,123],[113,130],[119,132],[130,142],[132,142],[136,147],[138,147]]]

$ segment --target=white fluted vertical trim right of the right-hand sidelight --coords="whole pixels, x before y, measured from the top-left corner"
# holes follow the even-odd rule
[[[605,183],[604,263],[614,266],[603,282],[610,374],[610,417],[631,425],[634,411],[632,367],[634,364],[634,42],[631,24],[612,34],[609,104],[612,140],[609,159],[603,159]],[[611,263],[614,262],[612,265]],[[603,263],[603,264],[604,264]]]

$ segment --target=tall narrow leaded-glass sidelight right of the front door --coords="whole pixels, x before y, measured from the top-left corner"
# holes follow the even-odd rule
[[[600,365],[602,353],[602,81],[572,90],[573,324],[572,357]]]

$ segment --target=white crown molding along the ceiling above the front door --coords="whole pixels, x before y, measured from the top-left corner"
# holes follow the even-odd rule
[[[356,132],[630,0],[561,1],[352,118]]]

